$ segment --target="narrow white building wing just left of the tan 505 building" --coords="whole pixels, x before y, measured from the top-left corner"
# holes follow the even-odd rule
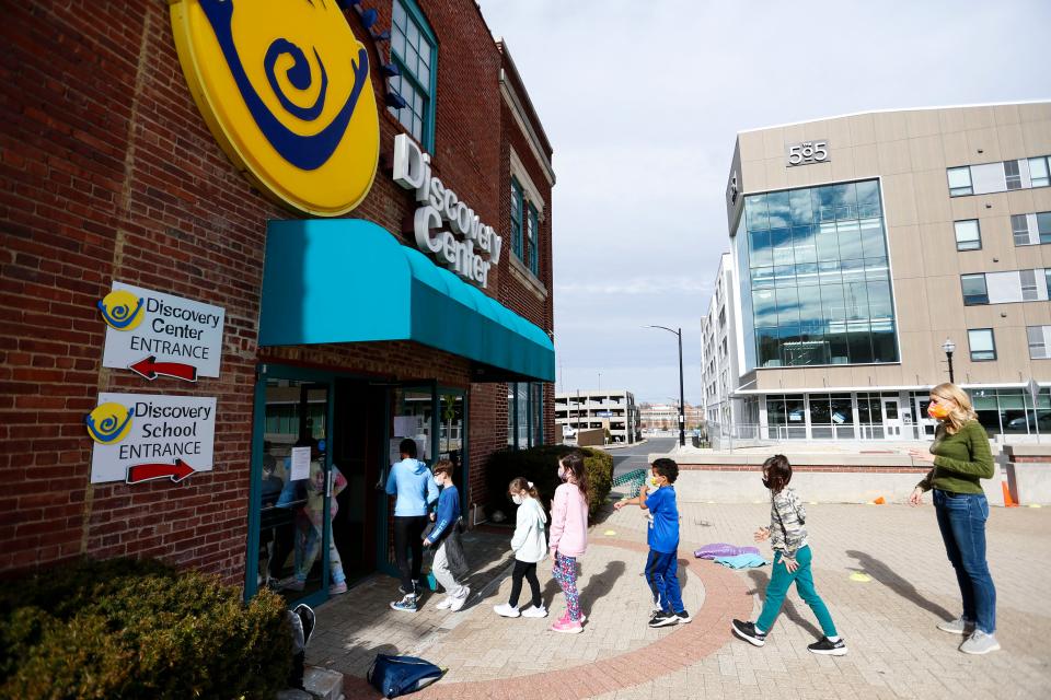
[[[737,315],[732,303],[734,258],[724,253],[715,276],[708,313],[701,319],[701,366],[704,402],[701,410],[705,420],[714,424],[735,422],[730,392],[736,387],[737,353],[730,348],[737,339]]]

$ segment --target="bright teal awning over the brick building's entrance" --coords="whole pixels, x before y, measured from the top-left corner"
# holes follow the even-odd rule
[[[370,221],[270,221],[261,346],[414,340],[511,375],[555,378],[526,320]]]

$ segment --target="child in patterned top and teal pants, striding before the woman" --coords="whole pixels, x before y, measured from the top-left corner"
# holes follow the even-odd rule
[[[774,550],[774,572],[766,586],[766,600],[759,619],[755,622],[734,620],[732,631],[750,644],[765,644],[766,635],[781,612],[785,595],[795,582],[799,596],[813,610],[824,633],[824,637],[807,649],[815,654],[843,656],[846,654],[846,643],[835,631],[829,608],[813,587],[813,572],[810,570],[812,555],[806,528],[807,512],[796,492],[788,488],[790,480],[792,465],[784,455],[774,455],[763,463],[763,486],[770,489],[770,527],[759,528],[755,541],[770,539],[770,546]]]

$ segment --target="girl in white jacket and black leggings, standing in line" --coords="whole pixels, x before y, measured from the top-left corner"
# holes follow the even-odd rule
[[[522,477],[513,479],[507,491],[518,505],[511,549],[515,551],[515,571],[511,572],[511,595],[504,605],[493,606],[504,617],[547,617],[547,609],[540,597],[540,581],[536,580],[536,562],[547,555],[547,538],[544,536],[547,515],[536,499],[536,488]],[[530,607],[519,611],[518,596],[522,593],[522,579],[529,581],[533,597]]]

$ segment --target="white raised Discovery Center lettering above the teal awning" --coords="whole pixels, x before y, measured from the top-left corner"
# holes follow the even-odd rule
[[[394,138],[394,182],[416,190],[416,247],[434,255],[460,277],[488,287],[489,268],[499,264],[504,240],[493,226],[482,223],[481,217],[455,191],[435,177],[430,154],[404,133]],[[441,230],[444,224],[448,230]]]

